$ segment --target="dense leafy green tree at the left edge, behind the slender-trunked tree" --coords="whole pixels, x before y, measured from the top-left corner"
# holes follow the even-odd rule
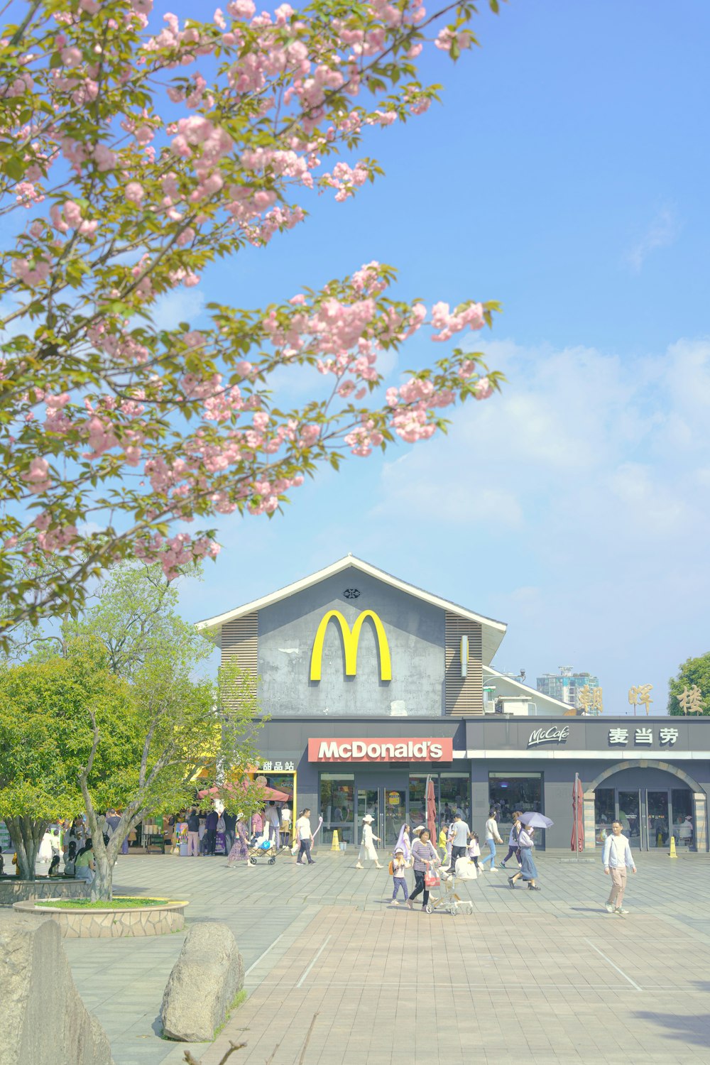
[[[78,768],[92,749],[90,715],[112,735],[95,759],[97,788],[113,779],[117,749],[135,757],[129,705],[127,684],[97,645],[76,643],[67,658],[0,668],[0,817],[24,879],[34,879],[50,822],[83,805]]]

